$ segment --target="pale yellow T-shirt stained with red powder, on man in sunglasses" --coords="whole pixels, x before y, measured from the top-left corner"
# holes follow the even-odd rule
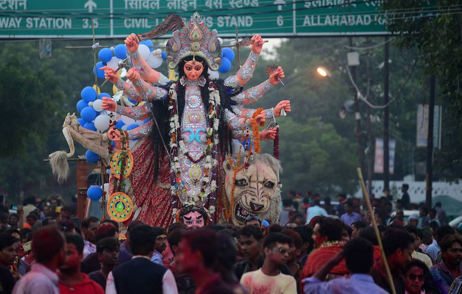
[[[249,294],[297,294],[297,282],[294,277],[279,273],[268,276],[260,269],[244,273],[241,284]]]

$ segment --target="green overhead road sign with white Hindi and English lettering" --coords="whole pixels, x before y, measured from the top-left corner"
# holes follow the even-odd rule
[[[123,37],[194,11],[220,36],[388,34],[381,0],[0,0],[0,37]]]

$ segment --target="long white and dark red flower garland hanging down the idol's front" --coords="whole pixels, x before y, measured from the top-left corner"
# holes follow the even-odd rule
[[[197,195],[187,195],[187,189],[184,181],[181,178],[181,169],[178,152],[181,150],[182,155],[188,156],[188,149],[181,139],[181,126],[180,118],[178,115],[178,100],[177,100],[177,91],[176,84],[172,84],[169,90],[169,106],[168,110],[170,112],[170,156],[172,158],[172,164],[170,167],[171,175],[170,181],[172,182],[170,192],[171,192],[171,203],[174,207],[172,215],[176,216],[178,213],[178,203],[177,199],[180,199],[181,203],[184,205],[195,205],[196,201],[199,198],[205,198],[209,196],[209,208],[208,213],[210,217],[213,218],[215,213],[215,200],[216,200],[216,190],[217,190],[217,164],[216,159],[217,146],[219,143],[218,139],[218,126],[220,120],[219,109],[220,109],[220,93],[217,90],[216,85],[213,82],[210,82],[208,86],[209,99],[208,99],[208,127],[206,128],[206,138],[207,138],[207,147],[205,149],[205,164],[204,164],[204,177],[202,179],[201,191]],[[180,148],[178,148],[180,147]]]

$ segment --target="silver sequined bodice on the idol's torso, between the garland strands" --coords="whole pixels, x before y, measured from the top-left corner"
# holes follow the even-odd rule
[[[179,162],[187,194],[194,196],[201,191],[205,157],[197,163],[191,161],[191,159],[197,161],[204,155],[207,147],[205,131],[207,119],[198,83],[187,81],[185,88],[185,106],[183,117],[181,117],[181,136],[188,150],[189,158],[184,154],[185,150],[180,149]]]

